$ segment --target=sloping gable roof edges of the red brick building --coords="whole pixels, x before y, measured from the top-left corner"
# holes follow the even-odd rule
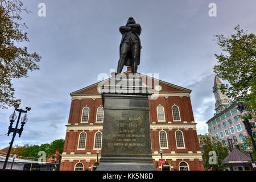
[[[131,73],[131,71],[126,71],[126,72],[123,72],[123,74],[127,75],[128,73]],[[146,77],[146,78],[150,78],[151,80],[158,80],[156,78],[153,78],[153,77],[150,77],[150,76],[146,76],[146,75],[143,75],[141,73],[138,73],[139,75],[141,75],[142,77]],[[100,82],[102,83],[105,83],[105,82],[108,82],[110,80],[110,77],[105,79],[105,80],[102,80],[102,81],[99,81],[99,82],[96,82],[95,84],[92,84],[92,85],[89,85],[89,86],[86,86],[85,88],[82,88],[82,89],[79,89],[79,90],[76,90],[75,92],[72,92],[70,93],[71,96],[77,96],[77,95],[81,95],[80,93],[81,92],[84,92],[85,90],[89,90],[95,86],[97,86],[98,84],[100,84]],[[177,85],[174,85],[174,84],[171,84],[169,82],[166,82],[166,81],[162,81],[162,80],[158,80],[159,83],[163,84],[163,85],[167,85],[167,86],[171,86],[173,88],[176,88],[176,89],[180,89],[181,91],[180,92],[188,92],[188,93],[191,93],[192,90],[190,89],[187,89],[187,88],[183,88],[181,86],[177,86]],[[178,91],[179,92],[179,91]]]

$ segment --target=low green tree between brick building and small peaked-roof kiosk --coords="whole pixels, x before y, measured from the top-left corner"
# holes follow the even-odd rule
[[[226,158],[226,156],[229,155],[229,152],[231,151],[229,147],[223,147],[221,142],[208,141],[207,144],[203,148],[203,163],[205,170],[209,170],[213,167],[213,169],[216,169],[218,171],[222,171],[226,168],[224,164],[222,164],[222,160]],[[209,152],[215,151],[217,154],[217,164],[209,164]]]

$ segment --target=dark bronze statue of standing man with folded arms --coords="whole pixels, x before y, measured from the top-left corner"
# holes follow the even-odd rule
[[[133,17],[127,20],[126,26],[121,26],[119,31],[122,40],[119,47],[120,58],[118,61],[117,73],[121,73],[123,66],[131,67],[131,73],[137,73],[141,57],[141,26],[135,22]]]

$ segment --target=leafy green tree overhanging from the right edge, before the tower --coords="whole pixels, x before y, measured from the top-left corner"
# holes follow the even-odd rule
[[[214,35],[217,44],[222,48],[220,55],[215,54],[218,65],[214,66],[214,73],[230,85],[223,85],[221,90],[228,96],[238,96],[246,99],[252,109],[256,108],[256,37],[247,34],[238,24],[234,28],[236,34],[226,38],[224,35]]]

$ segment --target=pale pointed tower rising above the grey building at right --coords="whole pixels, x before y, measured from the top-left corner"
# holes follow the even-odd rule
[[[224,85],[220,79],[215,76],[214,77],[214,85],[213,85],[213,93],[215,96],[215,110],[216,113],[223,109],[223,107],[228,106],[228,104],[231,102],[230,98],[226,96],[226,94],[221,92],[221,85]]]

